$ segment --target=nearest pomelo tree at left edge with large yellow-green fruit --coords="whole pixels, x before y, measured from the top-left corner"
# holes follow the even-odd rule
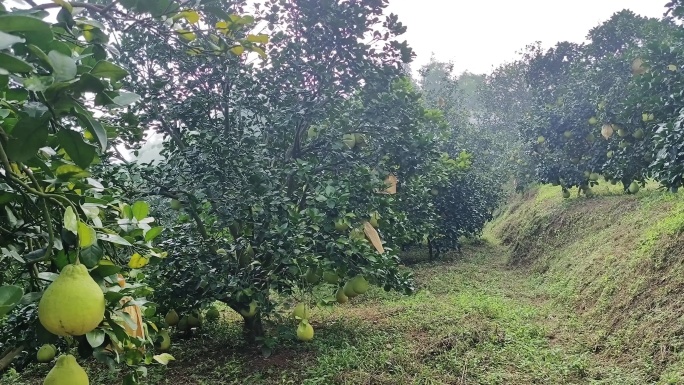
[[[166,253],[149,205],[125,199],[108,171],[142,132],[120,124],[140,97],[112,36],[140,23],[177,40],[199,14],[173,1],[28,3],[0,4],[0,371],[54,343],[125,363],[135,383],[139,366],[171,358],[154,354],[161,323],[139,273]],[[46,288],[59,294],[42,298]]]

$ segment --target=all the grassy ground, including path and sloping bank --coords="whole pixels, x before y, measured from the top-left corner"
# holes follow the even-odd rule
[[[317,309],[315,338],[271,329],[269,358],[245,346],[238,317],[186,340],[144,384],[684,384],[684,198],[652,185],[563,200],[536,188],[450,261],[413,266],[413,296],[373,288]],[[423,252],[423,258],[425,257]],[[420,252],[412,259],[420,259]],[[91,384],[121,373],[87,363]],[[2,384],[42,383],[49,366]]]

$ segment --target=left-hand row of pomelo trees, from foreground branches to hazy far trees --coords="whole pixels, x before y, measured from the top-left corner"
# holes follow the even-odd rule
[[[135,383],[215,301],[266,351],[305,304],[310,339],[306,306],[410,293],[400,249],[457,247],[500,200],[502,152],[448,68],[411,79],[386,1],[27,3],[0,5],[0,371],[54,344]],[[73,265],[104,316],[56,332]]]

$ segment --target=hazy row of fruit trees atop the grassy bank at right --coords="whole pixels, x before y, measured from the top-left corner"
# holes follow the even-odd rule
[[[666,9],[662,19],[616,13],[585,44],[529,46],[486,79],[482,100],[502,107],[488,114],[496,130],[519,135],[507,155],[520,187],[553,183],[569,196],[574,186],[590,195],[599,179],[631,193],[649,178],[682,186],[683,13],[679,1]]]

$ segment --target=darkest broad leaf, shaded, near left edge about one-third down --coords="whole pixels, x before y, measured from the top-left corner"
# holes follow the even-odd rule
[[[26,162],[36,155],[39,148],[45,146],[47,138],[47,121],[25,117],[17,122],[10,133],[7,156],[15,162]]]

